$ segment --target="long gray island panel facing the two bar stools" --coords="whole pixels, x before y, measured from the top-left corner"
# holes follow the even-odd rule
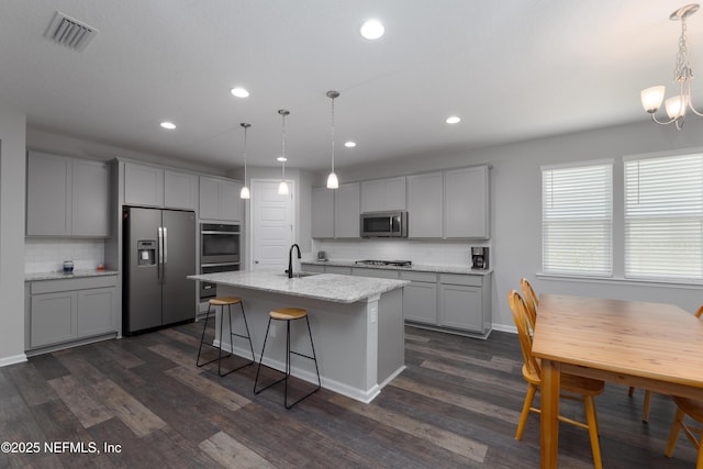
[[[378,394],[378,324],[369,324],[367,301],[336,303],[226,284],[219,284],[217,293],[242,298],[257,360],[264,346],[269,312],[278,308],[303,308],[308,310],[310,317],[322,386],[361,402],[370,402]],[[237,314],[233,314],[233,320],[235,330],[238,327],[241,332],[242,323]],[[286,360],[286,323],[274,321],[274,324],[276,324],[276,336],[271,337],[269,334],[264,365],[282,370]],[[216,326],[219,338],[219,317]],[[223,327],[225,332],[222,338],[223,345],[228,349],[227,315],[224,317]],[[371,338],[373,344],[369,347]],[[250,355],[250,353],[247,354],[246,348],[246,345],[243,346],[239,340],[235,340],[235,354]],[[291,324],[291,348],[303,354],[310,353],[304,321],[294,321]],[[314,365],[310,360],[293,356],[291,366],[293,376],[311,382],[316,381]]]

